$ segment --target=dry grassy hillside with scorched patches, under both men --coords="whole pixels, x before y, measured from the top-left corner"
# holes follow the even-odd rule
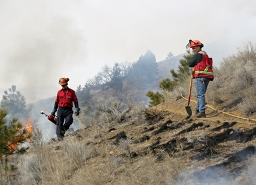
[[[26,155],[10,156],[17,169],[1,171],[0,184],[255,184],[255,64],[249,43],[214,67],[207,118],[187,115],[181,95],[187,97],[190,78],[161,92],[154,107],[134,101],[145,93],[131,85],[100,88],[95,109],[81,107],[75,117],[81,129],[70,128],[63,141],[34,137]],[[195,94],[193,81],[192,110]]]

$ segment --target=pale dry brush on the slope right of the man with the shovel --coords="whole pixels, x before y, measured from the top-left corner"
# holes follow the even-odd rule
[[[220,67],[214,68],[215,79],[208,87],[208,100],[213,104],[228,104],[237,106],[237,100],[242,99],[238,108],[242,113],[250,115],[254,112],[256,84],[256,50],[255,45],[248,42],[239,48],[236,54],[223,58]],[[249,97],[249,98],[247,98]],[[249,100],[251,98],[251,100]]]

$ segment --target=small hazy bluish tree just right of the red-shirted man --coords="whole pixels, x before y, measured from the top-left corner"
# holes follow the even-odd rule
[[[92,94],[90,94],[90,90],[91,88],[87,84],[84,85],[84,87],[81,87],[81,85],[77,87],[77,91],[75,92],[75,94],[77,95],[78,101],[81,106],[86,106],[92,99]]]

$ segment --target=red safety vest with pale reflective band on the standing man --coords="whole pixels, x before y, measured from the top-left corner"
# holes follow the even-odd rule
[[[209,58],[205,51],[199,51],[203,58],[193,67],[193,78],[209,78],[214,80],[214,71],[212,70],[212,58]]]

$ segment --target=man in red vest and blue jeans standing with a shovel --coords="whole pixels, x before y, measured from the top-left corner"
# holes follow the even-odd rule
[[[196,87],[196,118],[206,118],[205,109],[205,92],[210,81],[214,80],[212,70],[212,58],[209,58],[205,51],[202,51],[203,44],[198,40],[190,40],[186,48],[192,48],[193,57],[188,62],[188,66],[193,67],[192,76],[195,79]]]

